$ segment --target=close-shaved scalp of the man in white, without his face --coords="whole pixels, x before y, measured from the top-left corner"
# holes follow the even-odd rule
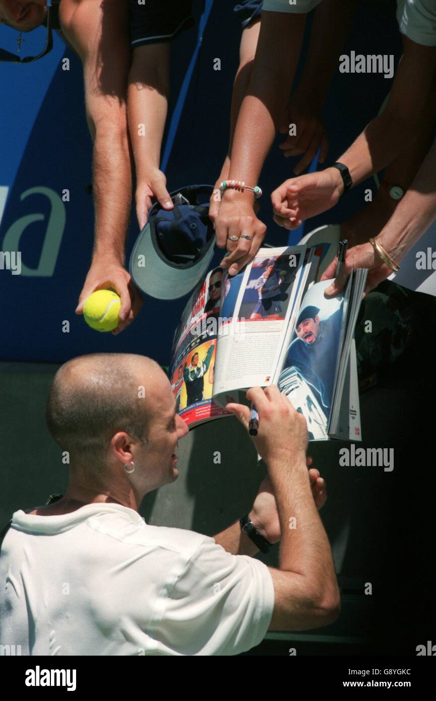
[[[69,452],[71,468],[100,471],[118,431],[147,442],[159,387],[168,380],[143,355],[96,353],[66,362],[55,374],[46,408],[50,434]]]

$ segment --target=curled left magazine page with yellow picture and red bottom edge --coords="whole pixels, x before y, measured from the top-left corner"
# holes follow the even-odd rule
[[[222,268],[207,273],[191,294],[174,336],[168,375],[177,413],[190,427],[229,415],[212,401],[223,278]]]

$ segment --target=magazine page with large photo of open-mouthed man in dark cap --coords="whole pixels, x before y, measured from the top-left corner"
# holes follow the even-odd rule
[[[309,440],[328,437],[346,322],[348,294],[325,297],[330,284],[331,280],[315,283],[304,295],[278,377],[280,391],[306,417]]]

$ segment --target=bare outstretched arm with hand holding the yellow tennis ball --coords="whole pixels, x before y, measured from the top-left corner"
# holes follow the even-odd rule
[[[95,290],[113,287],[121,296],[123,329],[139,311],[139,293],[123,268],[132,198],[132,163],[125,94],[130,66],[126,0],[63,0],[62,31],[79,53],[85,80],[86,118],[94,141],[93,260],[76,313]]]

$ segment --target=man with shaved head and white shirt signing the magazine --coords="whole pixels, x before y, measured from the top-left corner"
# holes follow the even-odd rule
[[[145,494],[177,479],[177,442],[188,433],[156,362],[104,354],[60,368],[46,418],[69,453],[69,484],[55,503],[15,512],[6,531],[1,645],[23,655],[236,655],[268,629],[336,618],[318,515],[325,482],[306,465],[306,421],[276,387],[248,396],[268,477],[245,530],[236,522],[210,538],[138,514]],[[228,408],[247,427],[249,409]],[[253,556],[280,531],[280,569],[268,568]]]

